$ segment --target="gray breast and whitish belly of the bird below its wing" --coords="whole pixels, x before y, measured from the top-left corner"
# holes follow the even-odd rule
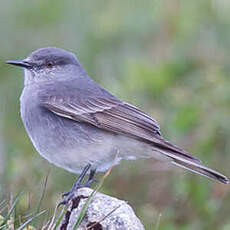
[[[105,171],[114,161],[114,135],[85,123],[37,110],[23,116],[36,150],[50,163],[78,173],[87,164]]]

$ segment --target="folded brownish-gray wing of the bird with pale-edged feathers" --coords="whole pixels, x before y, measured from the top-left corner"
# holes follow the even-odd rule
[[[126,102],[115,97],[89,97],[74,100],[71,97],[47,96],[41,106],[53,113],[78,122],[86,122],[115,134],[150,142],[173,155],[200,162],[183,149],[166,141],[157,122]]]

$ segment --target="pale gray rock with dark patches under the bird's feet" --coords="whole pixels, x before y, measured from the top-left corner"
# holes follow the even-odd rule
[[[78,189],[70,201],[59,229],[72,230],[89,195],[90,188]],[[79,230],[144,230],[133,209],[125,201],[97,193],[89,204]]]

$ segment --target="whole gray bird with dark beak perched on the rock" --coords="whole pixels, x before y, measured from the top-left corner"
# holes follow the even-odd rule
[[[41,48],[24,60],[7,61],[25,70],[21,117],[36,150],[49,162],[81,173],[107,170],[116,159],[156,158],[229,183],[178,146],[166,141],[160,126],[137,107],[95,83],[76,56],[55,47]],[[117,157],[116,157],[117,156]]]

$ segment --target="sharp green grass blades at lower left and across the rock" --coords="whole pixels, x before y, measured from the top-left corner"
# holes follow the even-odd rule
[[[111,169],[112,168],[110,168],[104,174],[102,179],[97,184],[96,188],[93,190],[93,192],[88,197],[86,203],[82,207],[82,210],[79,214],[78,219],[76,220],[76,223],[74,225],[74,229],[77,229],[80,226],[80,224],[81,224],[81,222],[82,222],[82,220],[86,214],[86,211],[88,209],[90,202],[92,201],[92,199],[94,198],[96,193],[99,191],[99,189],[103,186],[105,179],[109,176],[109,174],[111,172]],[[44,185],[42,187],[42,193],[40,195],[40,199],[37,202],[37,206],[34,208],[35,212],[31,212],[30,214],[24,216],[23,218],[17,212],[17,205],[20,202],[20,199],[23,195],[23,192],[20,192],[19,194],[17,194],[13,198],[11,203],[8,203],[6,200],[3,200],[0,202],[0,230],[12,230],[12,229],[33,230],[33,229],[37,229],[37,228],[35,228],[35,225],[33,225],[34,220],[36,220],[39,216],[42,216],[43,214],[46,213],[45,210],[40,211],[40,209],[42,206],[43,199],[45,197],[47,181],[48,181],[48,175],[46,176],[46,178],[44,180]],[[44,230],[56,230],[57,229],[57,227],[60,225],[66,211],[68,210],[68,205],[63,206],[61,208],[61,210],[58,208],[59,208],[59,205],[56,206],[52,217],[48,218],[49,220],[47,221],[47,223],[44,226],[39,226],[39,229],[44,229]],[[33,209],[33,208],[31,208],[31,209]],[[115,211],[115,210],[113,210],[113,211]],[[111,213],[106,215],[104,218],[107,218],[107,216],[109,216]],[[21,221],[22,219],[23,219],[23,222]]]

